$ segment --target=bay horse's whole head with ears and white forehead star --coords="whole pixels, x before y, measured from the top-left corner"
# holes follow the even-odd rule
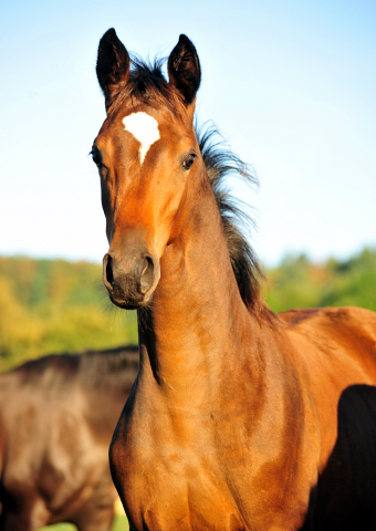
[[[200,64],[180,35],[158,67],[135,62],[108,30],[98,46],[96,73],[106,119],[92,156],[101,175],[108,252],[103,281],[114,304],[147,305],[160,278],[160,258],[179,233],[187,183],[205,165],[194,127]]]

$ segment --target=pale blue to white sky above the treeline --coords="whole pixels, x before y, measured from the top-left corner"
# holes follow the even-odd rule
[[[95,77],[111,27],[168,55],[179,33],[202,67],[200,122],[253,166],[252,236],[285,253],[345,258],[376,246],[374,1],[14,1],[0,7],[0,253],[100,261],[107,250],[87,153],[104,117]]]

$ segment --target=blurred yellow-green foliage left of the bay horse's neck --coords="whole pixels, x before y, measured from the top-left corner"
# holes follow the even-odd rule
[[[0,257],[0,371],[126,343],[137,343],[136,312],[109,302],[101,266]]]

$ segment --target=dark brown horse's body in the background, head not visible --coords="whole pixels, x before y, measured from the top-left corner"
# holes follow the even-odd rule
[[[73,522],[108,531],[108,445],[138,367],[137,347],[51,355],[0,375],[1,531]]]

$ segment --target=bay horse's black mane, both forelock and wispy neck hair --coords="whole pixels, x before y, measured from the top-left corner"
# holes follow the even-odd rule
[[[164,62],[164,59],[145,62],[137,55],[133,55],[129,81],[114,107],[117,107],[124,97],[130,96],[144,101],[150,106],[166,105],[175,115],[181,115],[181,102],[163,73]],[[247,212],[247,205],[234,199],[224,186],[224,180],[229,175],[240,176],[249,184],[257,184],[257,179],[251,175],[248,166],[226,146],[213,125],[202,129],[196,127],[196,133],[221,214],[231,264],[241,298],[251,313],[270,321],[274,314],[265,306],[260,287],[260,280],[264,275],[252,247],[240,228],[243,226],[249,229],[254,223]]]

